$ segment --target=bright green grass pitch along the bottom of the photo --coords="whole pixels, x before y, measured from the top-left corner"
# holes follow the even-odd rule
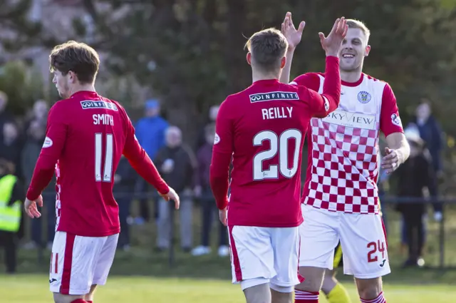
[[[359,302],[353,284],[346,283],[353,302]],[[45,275],[0,276],[1,302],[48,303],[52,302]],[[388,303],[454,303],[456,287],[427,284],[410,286],[385,284]],[[208,279],[158,279],[151,277],[110,277],[100,287],[96,303],[240,303],[244,295],[237,285],[229,281]],[[326,299],[321,297],[321,303]]]

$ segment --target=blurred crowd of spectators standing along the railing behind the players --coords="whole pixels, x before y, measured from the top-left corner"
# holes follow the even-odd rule
[[[18,120],[6,109],[8,96],[0,92],[0,159],[9,163],[9,171],[18,176],[27,188],[33,174],[38,155],[46,133],[48,104],[38,100],[31,112]],[[165,181],[181,195],[180,211],[180,248],[192,255],[211,253],[211,232],[218,234],[218,255],[229,255],[227,232],[218,220],[217,208],[209,188],[209,165],[214,143],[215,118],[218,106],[209,109],[207,122],[199,130],[194,144],[182,140],[182,131],[170,125],[160,115],[160,103],[157,100],[145,102],[143,118],[135,123],[136,136],[146,153],[154,160],[157,169]],[[398,176],[399,197],[437,197],[438,178],[442,175],[442,131],[432,115],[430,103],[423,101],[416,109],[415,118],[405,126],[405,135],[410,143],[410,158],[394,173]],[[394,175],[393,174],[393,175]],[[380,172],[379,190],[383,194],[383,185],[389,175]],[[32,220],[29,239],[22,239],[24,249],[51,247],[54,235],[53,182],[43,193],[46,202],[44,216]],[[145,183],[130,167],[128,160],[120,160],[114,178],[114,194],[119,205],[121,233],[118,247],[130,248],[130,225],[144,225],[154,222],[157,226],[155,250],[163,251],[170,247],[172,225],[170,215],[172,204],[153,195],[155,190]],[[136,193],[137,195],[132,195]],[[138,195],[139,194],[139,195]],[[25,195],[25,193],[24,193]],[[155,197],[155,198],[152,198]],[[130,215],[133,200],[139,201],[138,216]],[[153,203],[150,204],[150,200]],[[380,198],[381,200],[381,198]],[[149,206],[152,205],[152,209]],[[194,208],[199,207],[201,222],[200,239],[193,239]],[[434,219],[442,219],[442,205],[433,204]],[[427,205],[420,202],[399,203],[396,210],[402,214],[402,242],[408,247],[408,260],[404,266],[423,264],[423,246],[426,235]],[[386,217],[384,217],[386,219]],[[217,225],[216,228],[213,228]],[[24,226],[24,224],[22,224]],[[43,228],[46,232],[43,232]],[[24,238],[24,227],[19,230],[19,239]],[[43,238],[43,234],[46,237]],[[197,245],[195,245],[197,243]],[[1,243],[0,243],[1,244]]]

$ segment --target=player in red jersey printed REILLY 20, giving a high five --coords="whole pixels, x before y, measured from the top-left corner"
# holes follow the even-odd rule
[[[248,303],[289,303],[299,284],[302,145],[309,120],[338,106],[337,51],[346,30],[338,19],[322,43],[328,78],[321,94],[279,83],[286,38],[276,29],[254,34],[247,41],[252,86],[219,108],[210,183],[228,225],[233,282],[240,282]]]

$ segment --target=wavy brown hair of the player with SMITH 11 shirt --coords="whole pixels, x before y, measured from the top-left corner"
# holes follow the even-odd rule
[[[81,83],[93,83],[100,66],[98,53],[86,43],[68,41],[53,48],[49,55],[51,72],[60,71],[65,76],[73,71]]]

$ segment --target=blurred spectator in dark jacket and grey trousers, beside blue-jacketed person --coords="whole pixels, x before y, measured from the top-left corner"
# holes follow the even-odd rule
[[[196,168],[196,159],[192,151],[182,145],[182,132],[176,126],[170,126],[165,132],[166,145],[161,148],[155,158],[155,165],[163,179],[180,195],[180,245],[182,250],[192,249],[192,209],[190,197],[192,179]],[[170,247],[170,216],[173,215],[174,204],[160,199],[157,222],[157,250]]]

